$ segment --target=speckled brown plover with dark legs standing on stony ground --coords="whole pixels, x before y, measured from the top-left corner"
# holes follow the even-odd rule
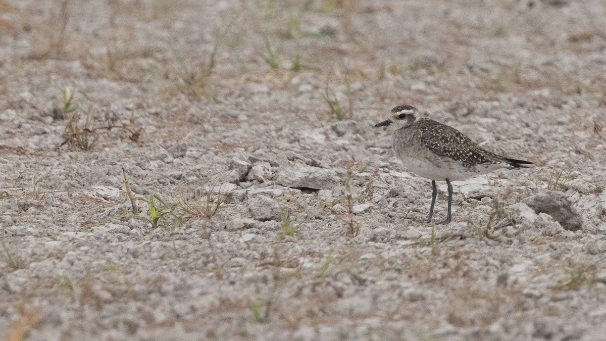
[[[421,117],[419,110],[410,105],[391,109],[387,120],[375,127],[393,126],[391,144],[404,166],[416,175],[431,180],[431,223],[438,188],[436,181],[448,186],[448,214],[436,225],[446,225],[452,218],[453,186],[451,181],[467,180],[493,170],[530,168],[530,161],[504,157],[480,147],[459,130],[446,124]]]

